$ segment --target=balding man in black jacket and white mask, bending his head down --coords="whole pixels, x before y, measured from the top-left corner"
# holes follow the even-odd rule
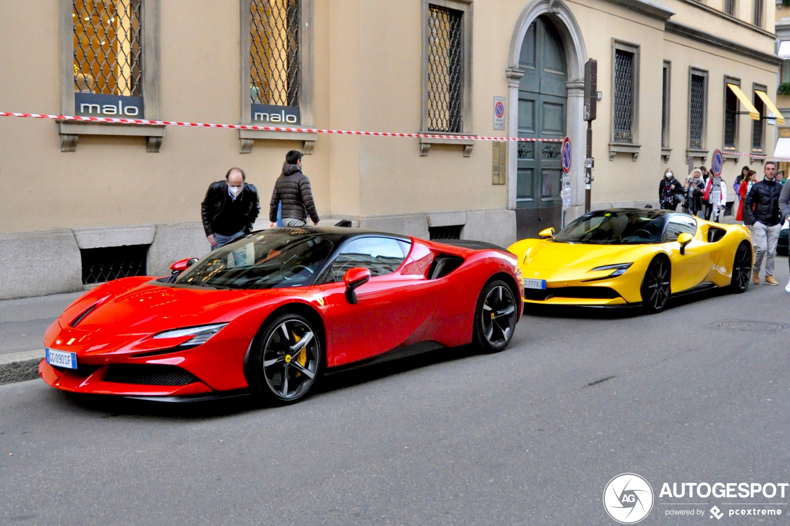
[[[224,181],[209,185],[201,204],[203,229],[211,249],[250,233],[260,211],[258,188],[246,182],[244,170],[228,170]]]

